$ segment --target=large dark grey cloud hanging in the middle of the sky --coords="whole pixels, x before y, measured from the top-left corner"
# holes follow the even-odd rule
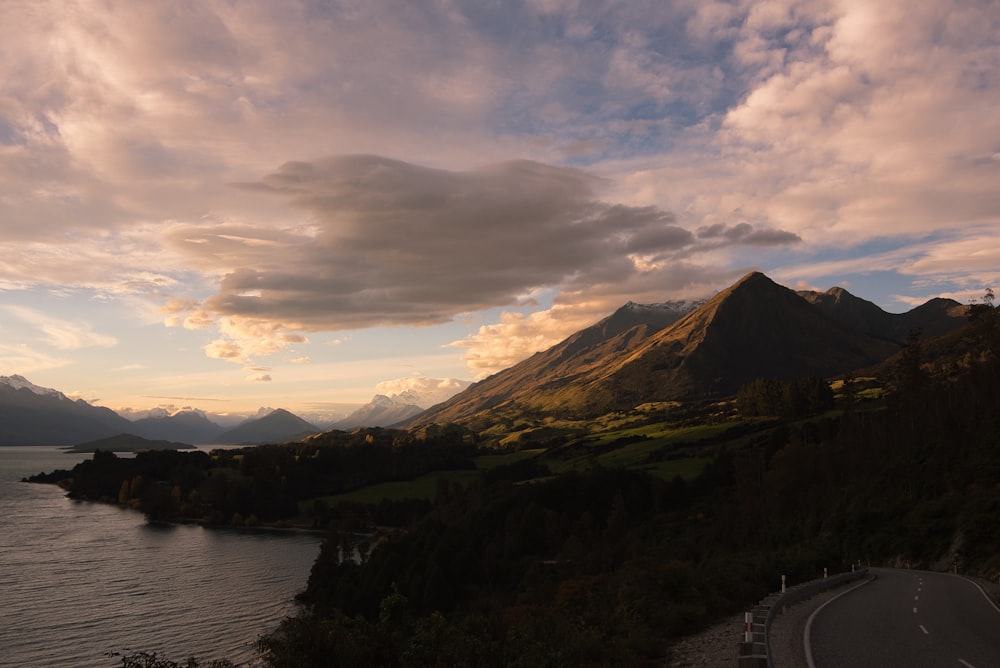
[[[604,202],[602,180],[525,160],[448,171],[345,156],[287,163],[242,187],[308,211],[310,228],[180,226],[166,236],[194,264],[232,267],[201,304],[230,330],[210,354],[230,359],[274,352],[279,330],[439,324],[537,289],[627,283],[698,248],[669,212]],[[796,240],[738,232],[712,241]],[[234,333],[250,323],[252,335]]]

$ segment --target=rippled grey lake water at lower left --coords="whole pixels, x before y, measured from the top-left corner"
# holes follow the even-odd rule
[[[0,447],[0,667],[112,668],[108,652],[249,664],[319,553],[298,533],[152,527],[17,482],[90,455]]]

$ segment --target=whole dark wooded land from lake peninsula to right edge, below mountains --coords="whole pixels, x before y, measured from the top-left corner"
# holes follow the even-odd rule
[[[484,452],[459,427],[365,430],[133,463],[97,454],[46,479],[151,519],[329,531],[302,612],[258,643],[269,666],[659,665],[672,639],[783,574],[858,561],[1000,573],[1000,323],[991,299],[970,319],[832,389],[760,380],[586,434],[525,429],[537,438],[520,450]],[[362,493],[417,490],[430,471],[430,493]],[[343,559],[358,532],[377,545]],[[197,665],[142,658],[123,665]]]

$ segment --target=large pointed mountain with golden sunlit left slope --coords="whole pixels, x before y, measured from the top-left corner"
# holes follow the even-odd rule
[[[840,289],[810,295],[754,272],[670,324],[647,320],[646,309],[626,304],[409,424],[593,417],[646,402],[727,396],[758,377],[828,377],[863,368],[897,352],[899,332],[965,322],[948,300],[893,315]]]

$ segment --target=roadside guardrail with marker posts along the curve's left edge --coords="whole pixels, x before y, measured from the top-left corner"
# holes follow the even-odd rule
[[[749,610],[743,620],[743,642],[740,643],[737,666],[739,668],[773,668],[771,663],[771,622],[785,611],[785,608],[801,603],[828,589],[860,580],[868,574],[867,568],[850,573],[824,576],[794,587],[785,587],[785,576],[781,576],[782,591],[768,594],[760,603]]]

